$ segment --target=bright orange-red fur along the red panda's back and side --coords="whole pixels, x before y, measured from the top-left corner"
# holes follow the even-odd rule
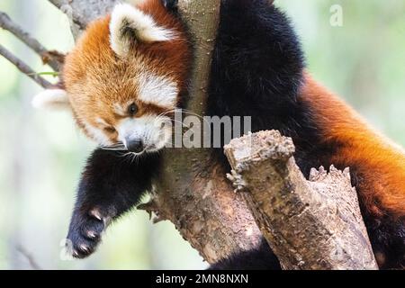
[[[365,209],[382,216],[390,212],[405,216],[405,152],[363,121],[346,103],[305,76],[301,100],[309,103],[313,117],[328,144],[338,142],[331,163],[356,166],[357,186]]]

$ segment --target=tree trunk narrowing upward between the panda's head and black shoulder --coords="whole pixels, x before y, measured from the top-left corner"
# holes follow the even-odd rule
[[[207,85],[219,23],[220,0],[179,1],[179,9],[193,35],[191,99],[187,109],[203,115]],[[171,220],[183,237],[209,263],[241,249],[256,246],[260,231],[240,195],[226,181],[226,171],[211,161],[211,150],[168,149],[162,175],[148,210]]]

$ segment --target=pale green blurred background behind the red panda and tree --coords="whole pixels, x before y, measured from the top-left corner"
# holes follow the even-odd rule
[[[278,0],[301,35],[312,74],[378,130],[405,144],[405,1]],[[330,8],[343,8],[343,26]],[[73,46],[65,16],[46,0],[0,0],[49,49]],[[6,31],[0,43],[36,71],[49,71]],[[49,78],[54,81],[54,79]],[[207,266],[169,222],[133,211],[108,229],[94,256],[67,261],[60,243],[78,176],[94,144],[65,112],[34,111],[40,87],[0,58],[0,269],[193,269]]]

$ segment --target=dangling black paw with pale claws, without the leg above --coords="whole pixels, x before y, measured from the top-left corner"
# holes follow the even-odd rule
[[[99,209],[84,215],[74,214],[67,233],[67,254],[75,258],[85,258],[93,254],[101,241],[103,230],[112,217]]]

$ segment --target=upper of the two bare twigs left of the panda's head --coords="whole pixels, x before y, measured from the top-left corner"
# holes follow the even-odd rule
[[[10,16],[1,11],[0,27],[12,32],[15,37],[22,40],[28,47],[33,49],[38,55],[40,55],[40,58],[42,58],[44,64],[48,64],[49,67],[52,67],[54,71],[59,70],[62,61],[60,58],[61,54],[57,53],[56,51],[49,51],[46,49],[42,44],[40,44],[39,40],[33,38],[30,33],[24,31],[19,24],[14,23]]]

